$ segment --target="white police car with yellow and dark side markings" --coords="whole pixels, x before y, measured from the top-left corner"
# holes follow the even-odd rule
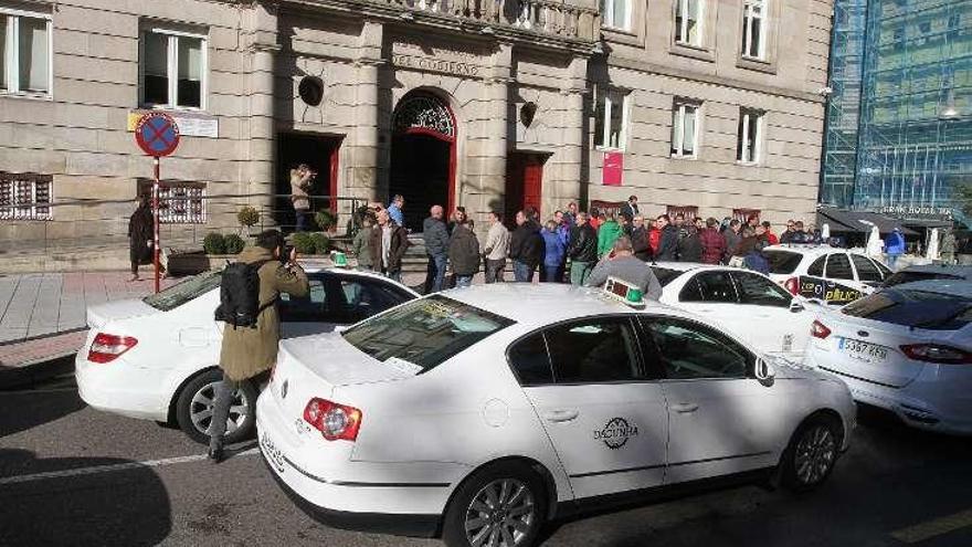
[[[862,250],[788,244],[763,250],[770,278],[790,294],[843,306],[866,296],[891,276],[888,266]]]

